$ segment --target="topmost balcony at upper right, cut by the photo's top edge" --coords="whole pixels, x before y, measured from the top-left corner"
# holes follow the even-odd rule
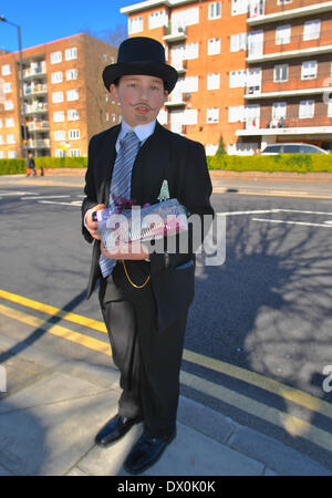
[[[256,27],[260,24],[266,24],[270,22],[287,21],[295,18],[302,18],[304,15],[319,15],[323,12],[329,12],[332,10],[332,1],[330,2],[319,2],[313,3],[312,0],[298,0],[297,9],[291,9],[290,4],[278,6],[279,12],[269,12],[269,2],[251,2],[248,9],[247,23],[250,27]],[[272,4],[270,10],[276,10],[276,3]]]

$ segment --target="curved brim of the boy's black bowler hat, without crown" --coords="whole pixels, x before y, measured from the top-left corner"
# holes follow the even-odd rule
[[[147,76],[157,76],[164,81],[165,90],[168,93],[175,87],[178,73],[172,65],[163,64],[162,62],[131,62],[110,64],[103,71],[103,81],[107,90],[112,83],[121,76],[131,74],[144,74]]]

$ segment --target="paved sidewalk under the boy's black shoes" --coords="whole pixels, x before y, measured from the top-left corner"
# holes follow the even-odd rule
[[[129,477],[122,465],[142,424],[106,449],[94,444],[100,427],[117,409],[117,372],[46,357],[32,346],[6,359],[14,345],[0,335],[0,360],[9,383],[9,392],[0,398],[0,476]],[[177,437],[143,475],[331,476],[332,471],[180,396]]]

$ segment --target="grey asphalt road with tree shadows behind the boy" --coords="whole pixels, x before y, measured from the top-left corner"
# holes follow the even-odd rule
[[[81,340],[48,333],[63,317],[22,299],[102,320],[96,293],[85,300],[81,201],[81,188],[0,187],[0,333],[22,352],[110,365]],[[181,394],[332,468],[332,200],[215,194],[212,204],[226,261],[197,268]],[[65,326],[107,344],[86,323]]]

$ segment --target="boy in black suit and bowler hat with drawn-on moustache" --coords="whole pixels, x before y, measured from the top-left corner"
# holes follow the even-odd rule
[[[177,81],[163,45],[149,38],[125,40],[116,64],[103,72],[121,105],[122,124],[92,137],[89,146],[83,235],[94,241],[87,297],[100,280],[100,303],[113,360],[121,372],[118,413],[96,435],[100,446],[118,440],[143,421],[144,433],[124,467],[139,474],[152,466],[176,435],[179,369],[189,305],[194,299],[195,247],[152,252],[106,250],[93,212],[116,198],[155,204],[162,186],[201,219],[214,210],[211,183],[201,144],[174,134],[156,117]],[[209,228],[205,224],[203,236]],[[201,242],[201,239],[200,239]],[[126,250],[126,252],[124,252]]]

